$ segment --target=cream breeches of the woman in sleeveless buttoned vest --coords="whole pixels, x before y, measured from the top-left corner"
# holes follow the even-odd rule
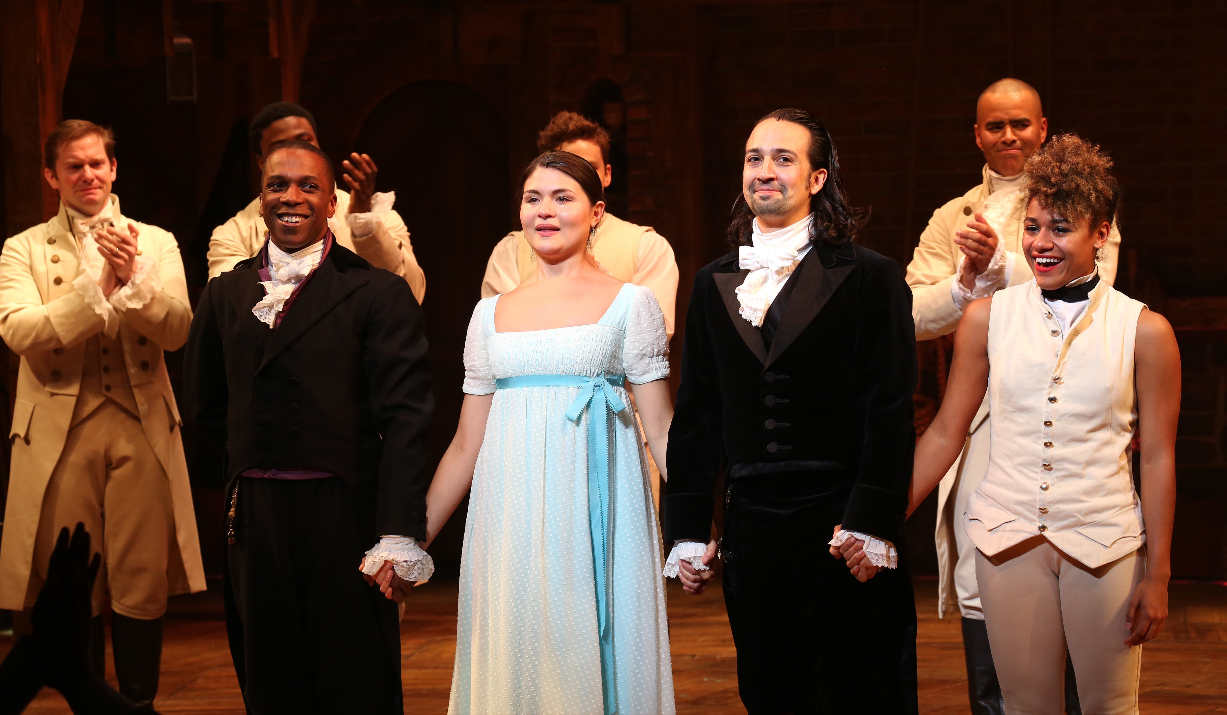
[[[975,552],[1009,715],[1065,713],[1066,648],[1085,715],[1137,713],[1142,649],[1125,645],[1125,614],[1145,563],[1137,551],[1091,569],[1043,536],[991,558]]]

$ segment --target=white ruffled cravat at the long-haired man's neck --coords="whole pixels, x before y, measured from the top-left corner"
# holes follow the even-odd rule
[[[737,302],[741,303],[741,316],[756,327],[762,326],[767,309],[793,275],[796,261],[810,250],[811,223],[812,213],[791,226],[766,233],[755,218],[753,244],[737,250],[739,265],[750,271],[737,286]]]

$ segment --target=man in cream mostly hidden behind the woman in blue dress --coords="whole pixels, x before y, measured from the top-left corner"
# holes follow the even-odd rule
[[[574,112],[560,112],[537,136],[540,151],[568,151],[596,169],[601,185],[609,186],[614,167],[609,163],[610,136],[601,125]],[[665,332],[674,336],[674,305],[677,303],[677,261],[674,249],[650,226],[637,226],[609,211],[596,224],[591,240],[593,256],[620,281],[652,289],[665,314]],[[508,233],[498,242],[481,282],[481,297],[509,293],[521,283],[535,281],[536,255],[523,231]]]

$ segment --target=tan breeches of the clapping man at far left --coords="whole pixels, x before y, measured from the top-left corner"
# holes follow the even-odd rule
[[[121,616],[160,618],[171,578],[184,568],[171,486],[140,421],[109,400],[69,429],[47,483],[26,608],[43,587],[60,529],[72,531],[77,521],[90,532],[91,551],[102,553],[93,613],[102,612],[109,594]]]

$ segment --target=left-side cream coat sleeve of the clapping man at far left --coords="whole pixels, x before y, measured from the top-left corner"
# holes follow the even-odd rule
[[[31,266],[34,242],[25,238],[10,238],[0,254],[0,337],[9,350],[28,356],[70,347],[101,332],[106,321],[77,291],[43,303]]]

